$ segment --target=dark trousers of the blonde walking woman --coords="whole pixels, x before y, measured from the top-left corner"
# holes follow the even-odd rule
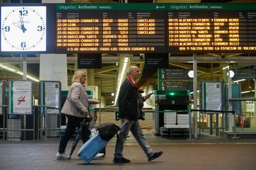
[[[67,127],[66,131],[64,132],[63,136],[61,137],[61,141],[59,142],[59,153],[64,153],[67,147],[67,142],[69,142],[69,138],[75,132],[76,128],[80,128],[80,123],[83,121],[84,118],[79,118],[76,116],[66,115],[67,116]],[[82,130],[82,139],[83,144],[90,139],[91,131],[88,129],[87,125]]]

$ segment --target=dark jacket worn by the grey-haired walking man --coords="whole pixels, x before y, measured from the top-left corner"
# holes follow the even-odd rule
[[[132,86],[129,79],[125,79],[122,83],[118,104],[120,118],[138,120],[138,87]]]

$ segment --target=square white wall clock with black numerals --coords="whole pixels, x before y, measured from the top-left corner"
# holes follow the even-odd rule
[[[46,7],[1,7],[1,51],[46,51]]]

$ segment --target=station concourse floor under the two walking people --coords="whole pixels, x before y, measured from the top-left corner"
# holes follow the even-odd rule
[[[79,142],[70,161],[56,160],[59,139],[47,141],[1,141],[0,169],[256,169],[256,139],[205,138],[197,140],[170,140],[155,137],[145,132],[146,138],[155,151],[163,155],[148,162],[145,153],[132,136],[127,139],[124,157],[131,163],[114,164],[113,153],[116,138],[106,148],[104,160],[93,160],[83,164],[77,152]],[[70,151],[72,140],[67,146]]]

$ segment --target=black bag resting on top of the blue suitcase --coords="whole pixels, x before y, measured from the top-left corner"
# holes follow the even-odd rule
[[[103,123],[98,127],[99,135],[104,140],[112,139],[120,130],[114,123]]]

